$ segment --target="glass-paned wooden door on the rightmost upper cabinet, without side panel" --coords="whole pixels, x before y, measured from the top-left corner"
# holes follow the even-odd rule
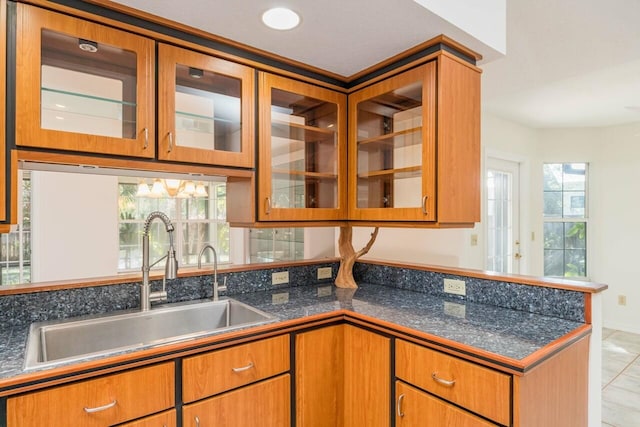
[[[349,97],[350,219],[435,220],[435,63]]]

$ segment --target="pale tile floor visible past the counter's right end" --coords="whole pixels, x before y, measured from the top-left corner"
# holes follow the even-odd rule
[[[602,331],[602,427],[640,427],[640,335]]]

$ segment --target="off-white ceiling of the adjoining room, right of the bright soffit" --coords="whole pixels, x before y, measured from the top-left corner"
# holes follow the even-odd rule
[[[509,0],[482,106],[533,128],[640,122],[640,1]]]

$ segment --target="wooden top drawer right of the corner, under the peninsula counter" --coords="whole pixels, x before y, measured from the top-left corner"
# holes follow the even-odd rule
[[[510,375],[398,340],[396,376],[498,423],[509,424]]]

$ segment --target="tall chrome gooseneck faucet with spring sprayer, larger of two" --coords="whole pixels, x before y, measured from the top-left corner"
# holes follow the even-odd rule
[[[165,229],[169,233],[169,250],[165,256],[149,265],[149,228],[154,219],[164,222]],[[176,251],[173,248],[173,230],[171,220],[162,212],[151,212],[144,222],[144,230],[142,232],[142,286],[140,288],[140,308],[142,311],[149,311],[152,302],[166,300],[166,281],[167,279],[175,279],[178,276],[178,260],[176,259]],[[167,263],[165,264],[164,277],[162,278],[162,291],[151,292],[149,270],[165,258]]]

